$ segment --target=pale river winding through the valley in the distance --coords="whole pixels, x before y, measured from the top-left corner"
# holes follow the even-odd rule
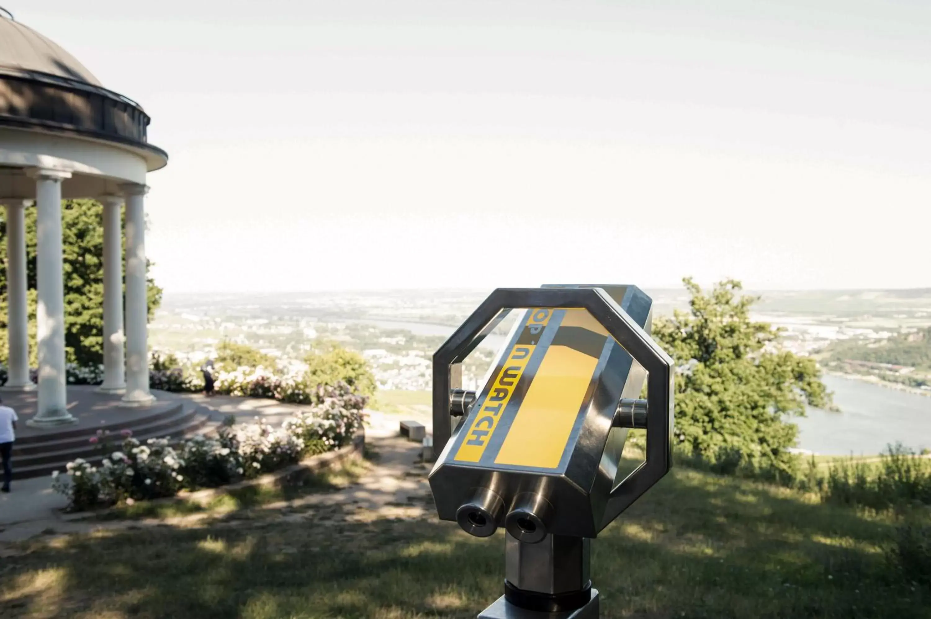
[[[452,327],[401,320],[358,320],[382,329],[409,330],[417,335],[448,336]],[[503,335],[489,335],[480,344],[497,350]],[[799,448],[827,455],[874,454],[890,443],[915,450],[931,449],[931,397],[898,391],[878,384],[826,375],[840,412],[808,408],[806,417],[790,421],[799,426]]]

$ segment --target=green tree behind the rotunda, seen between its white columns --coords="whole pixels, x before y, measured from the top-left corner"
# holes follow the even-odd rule
[[[103,360],[103,207],[94,200],[62,200],[61,253],[64,281],[65,355],[80,365]],[[123,218],[125,220],[125,218]],[[30,364],[35,366],[35,209],[26,209],[26,286],[28,289]],[[125,253],[124,253],[125,261]],[[7,222],[0,222],[0,361],[7,347]],[[147,267],[151,267],[151,262]],[[125,298],[124,287],[124,298]],[[149,317],[162,290],[148,279]]]

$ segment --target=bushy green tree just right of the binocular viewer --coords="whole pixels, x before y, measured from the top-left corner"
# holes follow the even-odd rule
[[[677,365],[676,440],[708,462],[729,459],[791,473],[786,451],[805,403],[830,406],[815,360],[779,350],[779,331],[749,318],[759,300],[729,279],[705,293],[690,278],[690,311],[654,325],[654,338]]]

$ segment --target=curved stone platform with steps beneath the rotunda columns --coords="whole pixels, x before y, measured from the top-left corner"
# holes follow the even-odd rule
[[[130,430],[142,441],[155,437],[182,437],[208,429],[209,411],[196,402],[175,394],[153,390],[155,402],[142,408],[122,405],[120,394],[102,394],[89,385],[69,385],[68,411],[76,424],[56,428],[34,428],[26,424],[36,411],[35,392],[4,392],[4,404],[16,410],[16,443],[13,472],[19,479],[48,475],[63,470],[75,458],[100,461],[105,453],[90,437],[98,430],[109,432],[107,453],[118,448],[120,432]]]

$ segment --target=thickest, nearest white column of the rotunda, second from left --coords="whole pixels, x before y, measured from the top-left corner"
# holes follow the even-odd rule
[[[64,367],[64,284],[61,276],[61,182],[70,172],[31,170],[35,179],[35,331],[39,354],[38,410],[27,422],[48,426],[77,421],[66,408]]]

